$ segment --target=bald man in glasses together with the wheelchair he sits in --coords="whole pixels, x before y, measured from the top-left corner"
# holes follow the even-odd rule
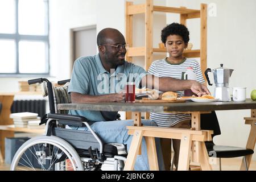
[[[137,86],[146,83],[143,86],[163,92],[191,89],[199,96],[209,94],[209,90],[199,82],[152,76],[143,68],[125,61],[127,45],[118,30],[105,28],[100,31],[97,45],[98,55],[80,57],[75,61],[68,93],[65,89],[55,89],[45,78],[28,81],[29,84],[47,82],[50,113],[44,120],[46,135],[32,138],[19,148],[11,164],[12,170],[96,170],[101,168],[101,164],[112,164],[115,170],[123,168],[126,150],[122,145],[129,150],[133,137],[127,134],[126,126],[132,126],[133,121],[117,121],[117,112],[69,110],[69,114],[56,114],[60,112],[51,103],[125,102],[122,90],[129,81],[135,81]],[[67,98],[58,103],[57,96]],[[142,123],[144,126],[156,126],[150,120],[142,120]],[[164,170],[160,140],[155,140],[159,169]],[[34,159],[28,160],[30,158]],[[134,168],[149,170],[144,139]]]

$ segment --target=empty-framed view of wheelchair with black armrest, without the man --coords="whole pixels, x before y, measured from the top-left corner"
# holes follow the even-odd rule
[[[65,85],[55,87],[46,78],[28,80],[29,85],[46,84],[50,113],[40,123],[46,124],[45,134],[27,140],[18,149],[11,162],[11,171],[95,171],[104,165],[122,171],[127,156],[123,144],[103,143],[88,124],[88,119],[56,109],[57,104],[71,102],[67,92],[69,81],[59,81],[59,85]],[[88,131],[66,126],[86,126]]]

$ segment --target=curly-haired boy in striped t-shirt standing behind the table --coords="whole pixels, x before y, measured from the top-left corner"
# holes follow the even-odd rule
[[[193,72],[196,73],[196,81],[204,83],[204,78],[201,73],[200,65],[195,59],[188,59],[183,57],[183,51],[188,46],[189,42],[189,31],[188,28],[183,24],[172,23],[167,27],[164,27],[161,34],[162,42],[166,47],[169,57],[154,61],[148,73],[159,77],[174,77],[181,79],[182,73],[187,71],[188,67],[193,68]],[[178,96],[183,96],[184,92],[177,92]],[[179,127],[179,128],[190,128],[191,117],[189,114],[170,114],[170,113],[150,113],[150,119],[154,121],[158,126],[161,127]],[[166,169],[170,169],[170,139],[161,139],[163,154]],[[179,148],[180,140],[172,139],[172,146],[174,147],[174,164],[177,169],[179,160]],[[167,148],[164,148],[167,147]]]

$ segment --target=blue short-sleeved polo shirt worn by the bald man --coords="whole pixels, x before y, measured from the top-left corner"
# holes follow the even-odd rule
[[[138,87],[146,74],[143,68],[127,61],[109,73],[103,67],[99,54],[80,57],[75,61],[68,92],[91,96],[118,93],[129,81],[135,81]],[[100,111],[70,110],[69,114],[82,115],[89,121],[106,121]]]

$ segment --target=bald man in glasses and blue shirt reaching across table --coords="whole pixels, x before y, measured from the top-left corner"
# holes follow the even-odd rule
[[[144,82],[148,88],[158,88],[163,92],[191,89],[199,96],[209,94],[209,90],[199,82],[170,77],[158,78],[125,61],[126,41],[121,32],[114,28],[101,30],[97,35],[97,45],[98,55],[80,57],[75,61],[68,89],[72,103],[125,102],[125,94],[121,90],[127,81],[135,81],[137,86]],[[133,121],[115,121],[117,112],[70,110],[69,114],[82,115],[89,119],[90,126],[104,143],[123,143],[129,149],[133,136],[127,134],[126,126],[132,126]],[[144,126],[156,126],[149,120],[142,120],[142,123]],[[85,127],[73,129],[86,130]],[[159,169],[164,170],[159,139],[156,139],[156,148]],[[135,170],[149,170],[144,139],[142,155],[137,156]]]

